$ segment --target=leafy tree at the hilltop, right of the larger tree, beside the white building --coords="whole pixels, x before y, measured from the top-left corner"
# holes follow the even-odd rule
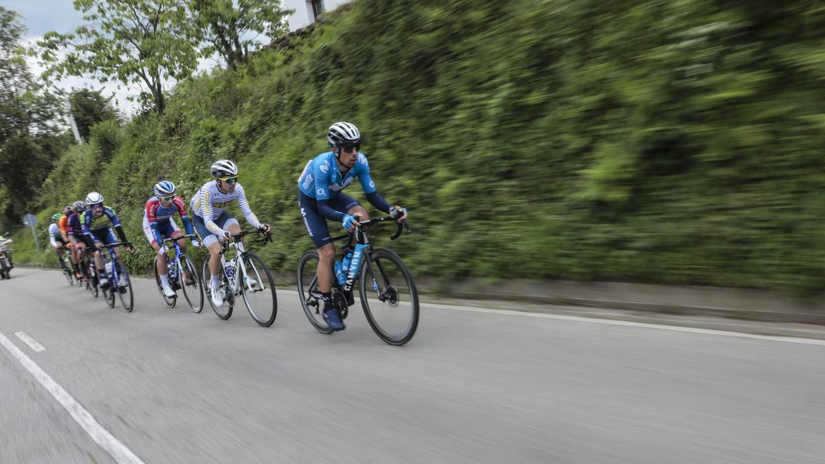
[[[245,63],[250,49],[260,47],[250,33],[272,39],[286,31],[286,11],[278,1],[191,0],[189,6],[196,31],[207,44],[201,50],[203,56],[217,53],[230,69]]]

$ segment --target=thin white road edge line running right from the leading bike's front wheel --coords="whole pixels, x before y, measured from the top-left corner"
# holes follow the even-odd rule
[[[575,315],[551,315],[546,313],[530,313],[526,311],[513,311],[513,310],[493,310],[489,308],[473,308],[469,306],[451,306],[451,305],[435,305],[429,303],[422,303],[422,306],[429,306],[431,308],[440,308],[444,310],[459,310],[459,311],[470,311],[475,313],[490,313],[490,314],[498,314],[498,315],[520,315],[524,317],[537,317],[541,319],[555,319],[555,320],[572,320],[576,322],[587,322],[589,324],[605,324],[605,325],[624,325],[627,327],[643,327],[646,329],[661,329],[661,330],[672,330],[673,332],[687,332],[690,334],[704,334],[704,335],[718,335],[721,337],[735,337],[738,339],[756,339],[756,340],[769,340],[771,342],[785,342],[785,343],[798,343],[800,345],[816,345],[820,347],[825,347],[825,340],[820,339],[800,339],[797,337],[783,337],[780,335],[758,335],[758,334],[746,334],[743,332],[730,332],[728,330],[716,330],[716,329],[698,329],[695,327],[680,327],[677,325],[663,325],[663,324],[650,324],[647,322],[633,322],[629,320],[610,320],[610,319],[596,319],[590,317],[582,317],[582,316],[575,316]]]

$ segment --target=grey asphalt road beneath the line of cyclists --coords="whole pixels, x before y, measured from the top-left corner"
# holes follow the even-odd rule
[[[825,462],[822,340],[422,305],[393,347],[134,289],[0,281],[0,462]]]

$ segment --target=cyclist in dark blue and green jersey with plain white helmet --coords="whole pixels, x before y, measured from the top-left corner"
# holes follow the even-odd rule
[[[116,244],[115,234],[111,231],[111,225],[115,226],[117,234],[121,242],[127,242],[126,234],[123,231],[123,226],[120,225],[120,220],[115,215],[115,210],[109,206],[103,205],[103,196],[97,192],[89,192],[86,196],[86,204],[89,207],[80,216],[80,224],[83,229],[83,240],[87,246],[94,250],[95,253],[95,267],[97,268],[97,275],[100,276],[101,288],[106,290],[109,288],[109,279],[106,277],[106,271],[103,268],[103,256],[101,254],[101,244]],[[111,225],[110,225],[111,224]],[[130,246],[129,253],[134,253],[134,247]],[[115,247],[115,254],[120,259],[120,247]]]

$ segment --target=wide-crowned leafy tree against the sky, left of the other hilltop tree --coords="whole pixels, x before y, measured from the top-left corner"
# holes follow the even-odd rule
[[[141,98],[163,113],[164,83],[197,67],[184,0],[75,0],[74,7],[87,24],[68,34],[47,32],[38,42],[47,73],[138,84]]]

